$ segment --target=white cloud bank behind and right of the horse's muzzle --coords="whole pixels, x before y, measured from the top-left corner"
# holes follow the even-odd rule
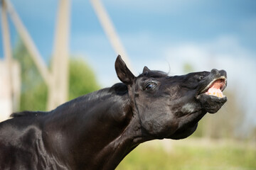
[[[246,110],[247,119],[256,124],[256,54],[242,47],[237,38],[222,36],[210,42],[181,43],[167,47],[165,57],[172,75],[185,74],[184,63],[191,64],[195,72],[225,69],[228,73],[228,89],[235,90],[238,104]],[[159,63],[159,69],[166,67],[159,61],[152,63]]]

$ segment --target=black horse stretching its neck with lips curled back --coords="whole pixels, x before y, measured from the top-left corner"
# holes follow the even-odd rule
[[[122,83],[0,123],[0,169],[115,169],[142,142],[188,137],[227,101],[224,70],[134,77],[120,56],[115,69]]]

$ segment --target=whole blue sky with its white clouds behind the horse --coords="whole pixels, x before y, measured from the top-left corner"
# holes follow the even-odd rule
[[[58,1],[11,0],[46,62],[53,50]],[[226,69],[228,88],[237,89],[255,117],[256,1],[102,1],[130,57],[134,74],[144,65],[170,74]],[[10,22],[12,45],[18,38]],[[0,28],[1,29],[1,28]],[[1,38],[1,35],[0,35]],[[102,86],[118,81],[117,57],[89,1],[72,1],[70,54],[84,57]],[[0,42],[0,57],[3,57]],[[238,90],[239,89],[239,90]],[[245,95],[246,94],[246,95]]]

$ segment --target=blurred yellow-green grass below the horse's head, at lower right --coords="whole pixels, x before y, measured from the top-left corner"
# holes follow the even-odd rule
[[[118,170],[254,170],[256,145],[198,139],[153,141],[139,145]]]

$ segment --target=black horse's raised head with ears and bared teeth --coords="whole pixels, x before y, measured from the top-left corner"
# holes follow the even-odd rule
[[[216,113],[227,101],[224,70],[193,72],[170,77],[144,67],[135,77],[120,56],[115,62],[117,77],[127,85],[133,116],[142,135],[154,139],[183,139],[197,128],[203,115]]]

